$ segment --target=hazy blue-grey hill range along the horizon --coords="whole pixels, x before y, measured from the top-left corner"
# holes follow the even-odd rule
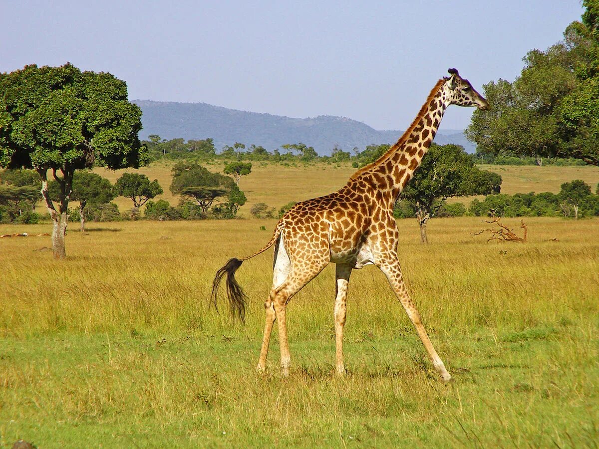
[[[314,147],[321,155],[330,154],[334,145],[345,151],[370,144],[394,143],[401,131],[377,131],[365,123],[346,117],[318,116],[307,119],[273,116],[213,106],[205,103],[178,103],[149,100],[133,100],[143,116],[144,128],[140,138],[147,139],[158,134],[164,139],[214,139],[220,150],[223,145],[242,142],[246,145],[262,145],[267,150],[281,145],[303,142]],[[475,151],[464,131],[460,129],[440,131],[435,142],[462,145],[468,153]]]

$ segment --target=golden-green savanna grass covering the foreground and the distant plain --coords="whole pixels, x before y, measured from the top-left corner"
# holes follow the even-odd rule
[[[511,190],[527,175],[501,174],[506,193],[557,192],[574,178],[596,186],[599,171],[582,169],[540,176],[549,187],[538,189]],[[256,163],[240,186],[249,203],[280,207],[337,189],[352,170]],[[486,244],[472,235],[476,217],[434,219],[426,246],[416,220],[398,221],[404,275],[448,385],[372,266],[352,274],[346,378],[334,376],[332,266],[289,304],[290,377],[279,374],[276,326],[257,374],[271,253],[238,271],[245,325],[208,297],[214,271],[264,244],[276,220],[72,226],[58,262],[43,249],[49,237],[1,239],[0,445],[596,447],[599,220],[525,220],[527,244]]]

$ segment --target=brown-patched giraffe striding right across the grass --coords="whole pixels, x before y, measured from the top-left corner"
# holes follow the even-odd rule
[[[412,178],[434,139],[443,113],[449,105],[489,104],[456,69],[437,81],[412,125],[401,138],[375,162],[356,171],[337,192],[296,204],[279,220],[270,241],[243,259],[229,259],[216,272],[211,298],[216,306],[220,281],[226,275],[226,290],[231,313],[244,320],[246,296],[235,280],[244,260],[251,259],[274,245],[273,286],[265,301],[264,338],[258,370],[266,368],[268,344],[278,320],[281,368],[289,375],[291,356],[286,326],[286,307],[295,293],[335,263],[335,371],[345,374],[343,327],[346,321],[347,286],[353,269],[376,265],[406,311],[429,358],[447,382],[451,375],[438,356],[422,324],[416,305],[407,292],[397,256],[398,230],[393,206],[401,190]]]

